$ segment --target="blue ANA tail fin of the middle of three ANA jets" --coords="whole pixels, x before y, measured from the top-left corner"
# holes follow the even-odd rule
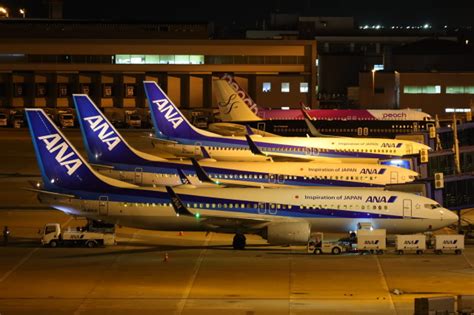
[[[86,94],[74,94],[89,161],[134,164],[140,158]]]

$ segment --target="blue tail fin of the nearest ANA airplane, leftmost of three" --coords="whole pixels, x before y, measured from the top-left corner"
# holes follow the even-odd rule
[[[87,164],[42,109],[26,109],[25,112],[47,190],[105,191],[114,186]]]

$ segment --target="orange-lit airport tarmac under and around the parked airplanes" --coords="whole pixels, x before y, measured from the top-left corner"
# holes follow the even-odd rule
[[[77,129],[66,134],[82,148]],[[141,135],[125,138],[151,152]],[[233,235],[119,227],[116,246],[42,247],[44,224],[84,221],[22,190],[39,176],[26,129],[0,130],[0,145],[0,228],[11,230],[0,243],[1,315],[413,314],[418,297],[474,294],[473,245],[462,255],[316,256],[258,236],[236,251]]]

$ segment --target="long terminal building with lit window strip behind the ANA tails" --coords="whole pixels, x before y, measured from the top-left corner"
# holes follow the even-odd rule
[[[211,108],[212,80],[224,72],[263,106],[316,106],[315,41],[215,40],[209,28],[0,20],[0,107],[67,108],[87,93],[104,108],[144,108],[141,82],[156,80],[178,106]]]

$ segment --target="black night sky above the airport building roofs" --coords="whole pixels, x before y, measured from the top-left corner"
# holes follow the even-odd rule
[[[0,0],[29,17],[47,17],[45,0]],[[216,21],[252,24],[271,12],[305,16],[354,16],[360,24],[471,25],[474,1],[427,0],[64,0],[64,17],[149,21]]]

